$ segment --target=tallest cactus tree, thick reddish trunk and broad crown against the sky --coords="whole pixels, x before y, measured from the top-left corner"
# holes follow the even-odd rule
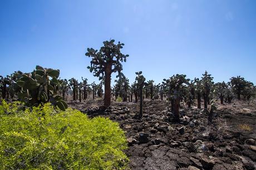
[[[90,69],[90,72],[93,71],[93,76],[99,77],[99,79],[105,76],[104,106],[106,107],[111,103],[111,74],[118,72],[117,77],[122,77],[121,62],[126,62],[126,57],[129,57],[129,55],[121,53],[124,44],[120,42],[114,44],[114,42],[114,39],[103,42],[104,46],[100,48],[100,51],[87,48],[88,52],[85,54],[92,57],[91,66],[87,68]]]

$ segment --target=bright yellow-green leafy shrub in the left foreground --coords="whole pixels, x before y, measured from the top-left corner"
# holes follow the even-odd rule
[[[51,104],[21,109],[21,103],[0,106],[2,169],[124,169],[127,142],[118,123]]]

